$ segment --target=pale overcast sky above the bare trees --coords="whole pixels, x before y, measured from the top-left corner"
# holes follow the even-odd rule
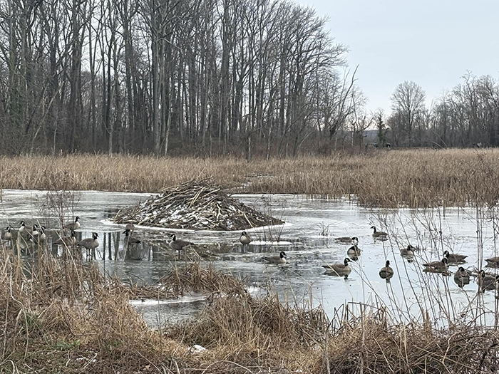
[[[366,108],[390,112],[396,85],[413,80],[431,100],[467,71],[499,78],[499,0],[295,0],[329,16],[335,40],[349,46],[349,66]]]

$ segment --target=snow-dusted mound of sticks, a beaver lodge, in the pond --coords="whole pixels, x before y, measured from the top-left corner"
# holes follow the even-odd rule
[[[227,231],[284,223],[247,207],[229,197],[222,187],[205,181],[184,182],[165,188],[145,202],[121,209],[115,222],[170,229]]]

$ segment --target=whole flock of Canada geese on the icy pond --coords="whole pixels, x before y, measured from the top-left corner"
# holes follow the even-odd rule
[[[66,247],[80,247],[85,248],[87,251],[87,255],[90,255],[95,251],[95,249],[99,246],[98,234],[96,232],[92,233],[91,238],[86,238],[81,241],[77,241],[75,236],[75,231],[81,227],[80,217],[76,217],[73,222],[69,222],[68,224],[63,225],[62,234],[57,234],[57,239],[53,240],[53,245],[62,245]],[[374,230],[372,237],[376,240],[386,240],[388,239],[388,234],[386,232],[380,232],[376,229],[376,227],[371,226],[371,229]],[[134,235],[135,226],[133,224],[127,224],[125,226],[125,234],[124,244],[125,247],[133,246],[135,244],[140,244],[141,241],[138,237]],[[34,244],[46,244],[47,234],[46,227],[40,224],[34,224],[33,227],[27,227],[24,221],[20,222],[20,227],[18,229],[19,235],[25,241],[31,241]],[[4,241],[11,241],[13,239],[12,236],[12,228],[7,226],[4,232],[1,235],[1,239]],[[240,243],[243,246],[249,246],[252,242],[252,237],[245,231],[242,232],[240,236]],[[336,264],[324,264],[322,267],[326,269],[326,275],[333,276],[343,276],[347,278],[351,273],[351,266],[349,263],[358,259],[358,256],[361,254],[361,249],[359,248],[359,239],[357,237],[338,237],[335,238],[336,241],[343,244],[352,244],[349,249],[346,251],[347,257],[341,263]],[[180,256],[180,251],[184,249],[185,246],[195,245],[190,241],[185,241],[182,239],[177,239],[175,234],[170,235],[170,242],[168,246],[173,251],[178,251]],[[417,248],[414,248],[411,245],[408,245],[406,248],[402,248],[400,250],[401,256],[404,256],[408,259],[408,261],[413,260],[413,256],[415,252],[418,251]],[[276,264],[283,265],[286,264],[286,253],[281,251],[278,256],[262,256],[262,259],[266,261],[268,264]],[[431,261],[423,264],[423,271],[431,272],[431,273],[441,273],[449,275],[451,274],[448,271],[448,266],[451,265],[460,265],[465,263],[465,259],[467,256],[462,254],[451,254],[449,251],[443,252],[443,257],[440,261]],[[490,259],[485,259],[488,266],[499,266],[499,256],[492,257]],[[393,277],[394,271],[390,266],[390,261],[387,260],[385,266],[383,266],[379,270],[379,276],[382,279],[386,279],[389,281],[391,277]],[[478,286],[482,291],[485,290],[493,290],[497,289],[499,291],[499,275],[486,274],[484,270],[478,271]],[[458,266],[458,270],[454,273],[454,281],[458,284],[459,287],[463,287],[466,284],[470,283],[470,276],[472,276],[471,272],[464,269],[463,266]]]

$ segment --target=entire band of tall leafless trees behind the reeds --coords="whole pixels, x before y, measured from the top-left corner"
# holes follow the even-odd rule
[[[347,47],[289,1],[3,0],[0,38],[4,155],[499,143],[493,78],[468,74],[431,108],[404,82],[391,115],[368,113]]]

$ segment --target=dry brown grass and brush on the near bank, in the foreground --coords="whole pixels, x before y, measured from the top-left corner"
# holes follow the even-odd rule
[[[105,279],[78,259],[0,266],[0,373],[491,373],[499,332],[396,323],[383,306],[329,321],[320,308],[255,298],[237,279],[190,264],[161,291]],[[205,291],[196,321],[152,331],[130,298]],[[207,348],[192,353],[190,347]]]

